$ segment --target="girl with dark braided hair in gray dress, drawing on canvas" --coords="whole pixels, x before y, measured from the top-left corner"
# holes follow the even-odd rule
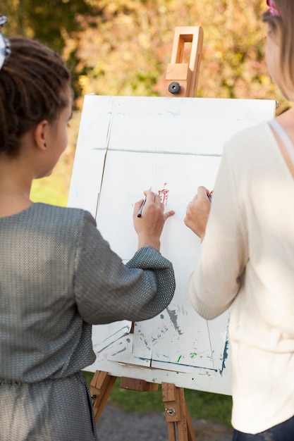
[[[3,23],[3,18],[1,23]],[[33,204],[32,180],[66,149],[70,75],[38,42],[0,34],[0,439],[94,441],[80,371],[94,362],[92,325],[141,321],[171,302],[161,256],[164,204],[151,191],[124,265],[87,211]]]

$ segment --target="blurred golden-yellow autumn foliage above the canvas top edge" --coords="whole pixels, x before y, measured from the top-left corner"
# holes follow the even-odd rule
[[[265,0],[99,0],[77,46],[84,93],[164,95],[176,26],[201,25],[198,97],[276,99],[264,61]],[[280,107],[283,110],[283,106]]]

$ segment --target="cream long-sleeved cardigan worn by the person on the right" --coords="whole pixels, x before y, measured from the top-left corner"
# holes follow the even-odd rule
[[[231,306],[232,424],[259,433],[294,415],[294,180],[267,122],[224,148],[192,305]]]

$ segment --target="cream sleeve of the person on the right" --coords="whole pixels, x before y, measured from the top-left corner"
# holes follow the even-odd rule
[[[190,300],[200,316],[210,320],[231,306],[245,271],[247,248],[245,211],[225,148],[200,261],[189,280]]]

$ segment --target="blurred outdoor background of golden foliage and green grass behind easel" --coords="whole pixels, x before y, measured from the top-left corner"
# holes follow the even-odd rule
[[[266,9],[265,0],[0,0],[4,35],[47,44],[72,76],[68,149],[49,178],[34,182],[32,199],[66,206],[85,94],[165,95],[176,26],[204,30],[197,97],[275,99],[277,113],[285,111],[290,104],[264,60]],[[125,410],[162,411],[161,394],[147,393],[114,387],[111,401]],[[231,397],[187,391],[187,401],[191,416],[230,426]]]

